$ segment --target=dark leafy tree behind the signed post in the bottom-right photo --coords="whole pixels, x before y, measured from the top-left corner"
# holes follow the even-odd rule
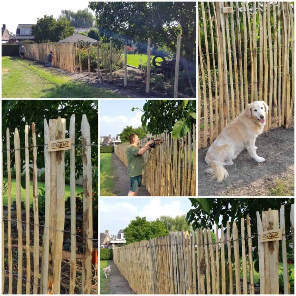
[[[232,227],[233,221],[236,222],[239,229],[239,237],[241,238],[241,218],[246,218],[249,215],[251,233],[256,235],[257,231],[257,218],[256,212],[259,211],[261,216],[262,211],[271,209],[280,209],[281,205],[285,205],[285,226],[286,234],[291,232],[290,210],[291,204],[294,203],[294,198],[189,198],[194,209],[190,209],[187,213],[188,223],[192,223],[193,229],[206,229],[209,227],[213,231],[213,225],[218,225],[221,229],[219,219],[222,216],[223,231],[225,232],[227,221]],[[246,229],[246,222],[245,222]],[[246,231],[246,230],[245,230]],[[232,231],[231,231],[232,232]],[[288,241],[292,242],[291,237],[287,237]],[[255,247],[253,251],[253,258],[255,262],[255,269],[259,270],[258,264],[258,239],[252,239],[252,246]],[[227,247],[227,246],[226,246]],[[288,252],[291,248],[287,246]],[[247,248],[246,248],[247,252]],[[282,252],[280,248],[279,257],[281,259]]]

